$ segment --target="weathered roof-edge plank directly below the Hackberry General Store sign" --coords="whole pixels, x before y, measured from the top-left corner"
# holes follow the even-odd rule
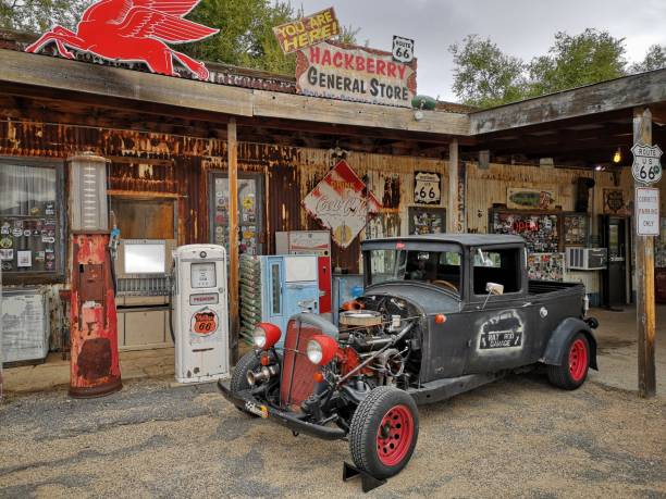
[[[424,111],[423,118],[416,121],[410,109],[264,90],[255,90],[254,115],[442,135],[469,134],[469,118],[465,114]]]

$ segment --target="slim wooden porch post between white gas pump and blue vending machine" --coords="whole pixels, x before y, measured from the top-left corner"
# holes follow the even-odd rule
[[[236,118],[226,125],[229,163],[229,325],[231,363],[238,361],[238,145]]]

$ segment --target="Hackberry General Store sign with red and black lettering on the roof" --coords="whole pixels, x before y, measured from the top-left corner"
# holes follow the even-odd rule
[[[411,107],[416,64],[391,52],[323,41],[296,53],[296,90],[314,97]]]

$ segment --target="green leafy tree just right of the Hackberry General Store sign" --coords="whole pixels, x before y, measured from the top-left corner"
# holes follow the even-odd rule
[[[456,65],[453,90],[466,104],[491,108],[522,98],[525,63],[502,52],[490,38],[468,35],[448,50]]]

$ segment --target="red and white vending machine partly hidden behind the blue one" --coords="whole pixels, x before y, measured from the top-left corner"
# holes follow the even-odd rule
[[[316,254],[319,280],[319,313],[332,320],[332,271],[330,230],[289,230],[275,233],[278,254]]]

